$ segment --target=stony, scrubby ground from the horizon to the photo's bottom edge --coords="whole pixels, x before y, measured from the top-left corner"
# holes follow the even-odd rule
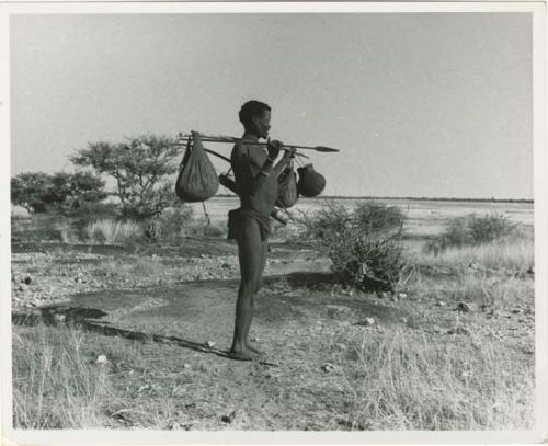
[[[155,237],[129,218],[13,217],[14,425],[532,428],[534,243],[516,218],[532,206],[445,206],[299,201],[271,243],[251,363],[224,355],[225,207],[210,224],[168,209]]]

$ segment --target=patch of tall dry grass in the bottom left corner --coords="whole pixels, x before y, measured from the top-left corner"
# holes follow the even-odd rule
[[[82,354],[83,334],[42,325],[38,336],[32,338],[13,335],[14,426],[42,430],[104,425],[101,408],[110,398],[106,369],[90,364]]]

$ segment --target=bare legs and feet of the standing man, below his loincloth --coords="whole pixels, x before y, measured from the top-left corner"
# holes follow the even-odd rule
[[[236,302],[235,336],[230,356],[237,359],[253,359],[254,351],[247,346],[247,336],[253,319],[254,295],[262,265],[263,243],[259,224],[252,218],[244,218],[238,239],[240,260],[240,289]]]

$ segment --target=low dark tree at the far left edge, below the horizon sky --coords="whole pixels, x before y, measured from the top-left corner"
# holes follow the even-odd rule
[[[104,181],[90,172],[23,172],[11,179],[11,202],[30,213],[71,210],[106,197]]]

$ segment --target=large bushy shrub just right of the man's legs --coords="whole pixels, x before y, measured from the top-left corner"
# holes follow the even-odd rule
[[[364,290],[393,290],[406,263],[402,256],[403,214],[393,207],[366,202],[353,211],[328,205],[301,215],[301,239],[332,261],[346,284]]]

